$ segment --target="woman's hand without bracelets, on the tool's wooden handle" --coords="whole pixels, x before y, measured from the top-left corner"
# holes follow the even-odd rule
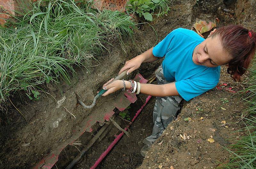
[[[142,62],[143,62],[142,57],[140,55],[136,56],[135,58],[126,61],[124,67],[122,67],[122,69],[119,71],[118,74],[120,74],[124,70],[128,69],[128,71],[126,73],[128,75],[128,74],[132,73],[134,70],[138,69]]]

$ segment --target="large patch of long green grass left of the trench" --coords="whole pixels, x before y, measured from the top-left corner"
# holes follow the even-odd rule
[[[41,0],[24,17],[12,15],[15,22],[0,26],[0,106],[18,90],[36,100],[40,84],[60,79],[70,83],[74,66],[92,66],[107,37],[132,36],[131,17],[90,6],[74,0]]]

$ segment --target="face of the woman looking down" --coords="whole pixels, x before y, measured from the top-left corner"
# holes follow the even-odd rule
[[[219,36],[209,36],[193,51],[192,60],[196,65],[217,67],[228,64],[232,58],[224,51]]]

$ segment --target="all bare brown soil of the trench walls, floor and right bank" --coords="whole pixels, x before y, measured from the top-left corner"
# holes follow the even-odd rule
[[[224,9],[234,12],[227,12]],[[1,123],[0,167],[33,168],[45,156],[65,147],[60,153],[58,162],[54,165],[55,168],[65,168],[88,144],[102,123],[93,124],[92,131],[86,131],[81,136],[79,134],[81,132],[75,131],[80,131],[82,126],[85,126],[85,121],[90,115],[97,114],[103,119],[99,112],[108,109],[107,106],[114,103],[119,94],[117,92],[102,97],[97,101],[94,109],[85,110],[76,104],[75,92],[79,93],[87,104],[90,104],[96,91],[100,90],[104,82],[115,76],[125,60],[154,46],[173,29],[179,27],[190,29],[196,19],[214,21],[218,17],[220,19],[218,26],[233,23],[255,30],[255,9],[256,4],[253,0],[238,0],[236,4],[234,1],[225,1],[224,4],[220,0],[172,1],[170,12],[162,17],[154,18],[154,21],[150,23],[156,32],[148,24],[139,25],[134,35],[136,38],[133,41],[125,39],[126,47],[123,47],[125,52],[122,47],[119,47],[120,44],[117,41],[110,39],[114,44],[114,46],[107,46],[111,53],[103,53],[104,57],[98,59],[100,66],[89,67],[88,70],[77,69],[71,86],[64,82],[59,85],[50,84],[45,87],[45,90],[52,96],[42,96],[42,99],[37,102],[29,101],[22,93],[18,96],[13,95],[11,99],[15,100],[14,104],[23,112],[28,124],[10,103],[6,103],[9,111],[7,115],[1,117],[5,123]],[[144,22],[136,19],[138,22]],[[206,37],[207,34],[204,36]],[[95,65],[97,64],[95,62]],[[136,73],[149,78],[160,64],[161,60],[142,64],[139,70],[127,79],[134,77]],[[177,120],[170,123],[143,159],[140,156],[142,140],[150,135],[153,126],[152,110],[155,98],[152,98],[132,124],[131,137],[124,136],[98,168],[170,168],[171,166],[175,169],[216,168],[228,162],[230,155],[223,147],[233,144],[234,139],[239,139],[242,133],[234,133],[234,131],[241,127],[240,123],[237,123],[240,121],[239,116],[246,113],[242,111],[245,105],[241,102],[241,96],[234,95],[233,91],[238,92],[243,89],[243,86],[241,83],[232,81],[225,67],[221,68],[219,86],[189,102],[184,102]],[[65,98],[64,102],[60,103],[63,98]],[[146,95],[140,95],[138,101],[132,104],[129,110],[131,116],[134,115],[135,110],[140,108],[145,98]],[[66,109],[72,112],[76,119]],[[57,127],[53,125],[56,119],[60,119]],[[127,123],[119,117],[115,120],[121,127]],[[118,133],[116,127],[113,127],[106,137],[101,141],[96,141],[75,168],[92,166],[114,140],[114,135]],[[214,139],[214,143],[209,143],[208,138]],[[75,139],[81,141],[79,143],[82,145],[76,147],[68,145]]]

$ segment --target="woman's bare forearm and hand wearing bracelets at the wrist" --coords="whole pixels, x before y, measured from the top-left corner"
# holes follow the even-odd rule
[[[110,81],[108,81],[108,83]],[[125,82],[126,89],[131,87],[131,83],[129,81],[124,81],[124,82]],[[116,80],[110,84],[108,83],[103,85],[103,89],[108,89],[108,91],[106,91],[106,93],[104,93],[102,96],[109,95],[110,93],[116,92],[117,90],[120,90],[121,88],[123,88],[122,80]],[[140,93],[143,93],[146,95],[152,95],[152,96],[158,96],[158,97],[179,95],[175,86],[175,82],[164,84],[164,85],[144,84],[144,83],[141,83],[140,85],[141,85]]]

